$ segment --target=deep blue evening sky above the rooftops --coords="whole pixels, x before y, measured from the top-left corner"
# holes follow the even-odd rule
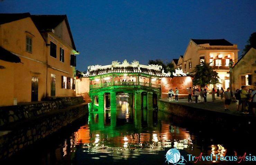
[[[67,15],[76,68],[184,55],[189,40],[225,38],[242,54],[256,32],[256,0],[4,0],[0,13]]]

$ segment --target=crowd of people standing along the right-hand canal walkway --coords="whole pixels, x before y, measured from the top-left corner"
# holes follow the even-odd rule
[[[252,113],[255,114],[256,111],[256,82],[254,83],[254,89],[247,89],[246,86],[241,86],[241,89],[233,89],[232,91],[230,88],[227,88],[225,91],[223,88],[219,89],[210,89],[207,85],[204,88],[196,88],[192,87],[187,88],[188,91],[188,102],[195,103],[207,103],[207,95],[211,95],[211,101],[214,102],[217,99],[221,101],[224,100],[224,108],[225,111],[229,111],[229,106],[231,102],[236,103],[237,112],[241,112],[244,114]],[[179,101],[179,90],[175,88],[175,91],[171,89],[168,92],[169,101]],[[200,100],[199,100],[200,98]],[[209,98],[208,98],[209,99]]]

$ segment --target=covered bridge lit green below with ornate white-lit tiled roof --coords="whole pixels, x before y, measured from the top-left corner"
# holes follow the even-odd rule
[[[111,65],[89,66],[85,77],[90,78],[90,110],[116,110],[117,103],[128,101],[135,109],[154,109],[161,97],[161,78],[169,77],[162,66],[129,64],[126,60]],[[125,107],[122,107],[125,108]]]

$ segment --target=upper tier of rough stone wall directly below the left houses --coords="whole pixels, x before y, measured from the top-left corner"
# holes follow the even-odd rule
[[[0,128],[15,121],[22,121],[30,117],[63,109],[67,106],[83,103],[83,97],[63,97],[52,101],[42,101],[36,103],[21,103],[18,106],[0,107]]]

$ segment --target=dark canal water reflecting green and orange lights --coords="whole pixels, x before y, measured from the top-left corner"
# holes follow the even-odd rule
[[[215,161],[215,156],[255,155],[254,141],[248,130],[200,125],[162,111],[134,110],[129,97],[120,97],[116,111],[91,112],[7,161],[42,165],[167,164],[166,152],[177,148],[187,161],[188,154],[212,154],[212,161],[196,164],[229,164],[234,162]]]

